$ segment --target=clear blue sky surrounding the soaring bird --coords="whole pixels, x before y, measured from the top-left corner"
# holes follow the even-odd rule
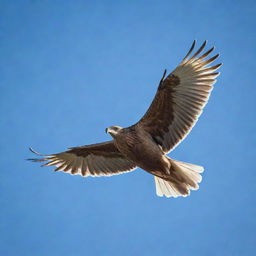
[[[1,255],[255,252],[255,1],[17,0],[0,13]],[[205,167],[200,190],[159,198],[140,169],[85,179],[24,160],[136,122],[194,39],[224,63],[170,154]]]

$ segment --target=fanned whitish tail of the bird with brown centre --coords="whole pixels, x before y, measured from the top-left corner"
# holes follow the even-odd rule
[[[189,164],[169,158],[171,163],[170,174],[162,178],[155,176],[156,193],[158,196],[178,197],[187,196],[190,190],[197,190],[201,182],[200,173],[204,168],[199,165]]]

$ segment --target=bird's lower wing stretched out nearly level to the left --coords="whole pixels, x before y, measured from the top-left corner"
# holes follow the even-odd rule
[[[55,171],[63,171],[82,176],[111,176],[132,171],[136,165],[126,159],[115,147],[113,141],[74,147],[68,151],[42,155],[28,159],[34,162],[46,161],[42,166],[56,166]]]

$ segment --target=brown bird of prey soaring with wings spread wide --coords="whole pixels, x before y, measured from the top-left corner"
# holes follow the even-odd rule
[[[219,54],[209,57],[215,48],[205,51],[206,44],[204,41],[195,51],[194,40],[178,66],[167,76],[164,70],[151,105],[137,123],[106,128],[112,140],[48,155],[29,148],[39,157],[28,160],[83,177],[112,176],[139,167],[154,176],[158,196],[190,195],[191,190],[199,188],[204,167],[167,154],[196,124],[220,74],[216,71],[222,63],[212,65]]]

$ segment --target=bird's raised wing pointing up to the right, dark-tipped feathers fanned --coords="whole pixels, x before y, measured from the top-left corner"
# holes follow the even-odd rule
[[[206,57],[214,47],[201,54],[206,41],[192,54],[195,41],[182,62],[160,81],[146,114],[136,124],[147,131],[164,152],[176,147],[190,132],[208,101],[221,64],[208,66],[219,54]],[[191,57],[190,57],[191,56]]]

